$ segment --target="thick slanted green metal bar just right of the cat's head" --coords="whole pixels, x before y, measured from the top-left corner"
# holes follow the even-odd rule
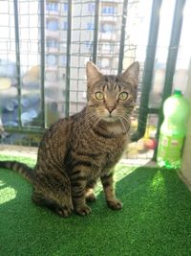
[[[132,135],[132,141],[138,141],[138,139],[144,136],[146,130],[147,117],[149,113],[149,92],[152,86],[153,68],[155,64],[156,49],[159,35],[159,10],[161,7],[161,3],[162,0],[153,1],[147,53],[142,81],[142,91],[138,111],[138,130],[135,134]]]

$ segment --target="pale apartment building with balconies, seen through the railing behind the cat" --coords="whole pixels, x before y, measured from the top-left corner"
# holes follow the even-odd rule
[[[66,88],[68,2],[46,2],[46,92],[64,113]],[[75,1],[72,19],[70,113],[86,102],[85,64],[93,58],[96,3]],[[122,3],[101,1],[99,7],[97,65],[105,73],[117,73]],[[56,91],[55,91],[56,87]]]

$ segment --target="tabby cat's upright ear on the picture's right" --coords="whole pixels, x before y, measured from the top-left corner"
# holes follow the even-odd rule
[[[138,86],[139,62],[131,64],[120,76],[125,81],[135,81],[135,86]]]

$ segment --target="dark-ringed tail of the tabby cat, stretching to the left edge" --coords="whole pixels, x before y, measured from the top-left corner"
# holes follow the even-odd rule
[[[34,172],[28,165],[17,161],[0,161],[0,168],[11,169],[24,176],[30,183],[33,183]]]

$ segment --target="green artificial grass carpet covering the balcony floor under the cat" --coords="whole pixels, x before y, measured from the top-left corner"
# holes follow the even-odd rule
[[[0,170],[0,255],[191,255],[191,194],[176,172],[118,165],[116,173],[121,211],[106,207],[98,186],[91,215],[62,219],[32,203],[23,177]]]

